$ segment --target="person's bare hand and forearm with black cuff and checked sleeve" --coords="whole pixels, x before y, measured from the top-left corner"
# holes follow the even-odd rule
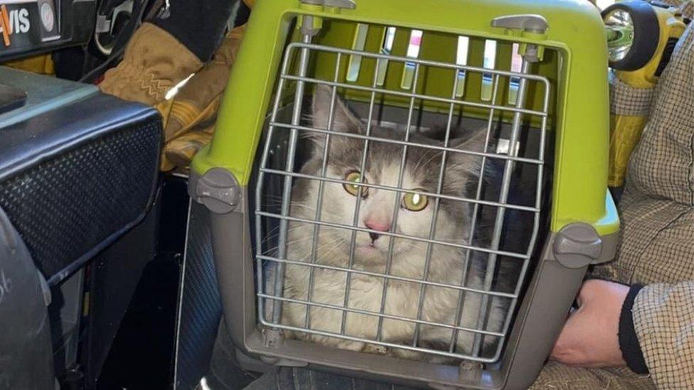
[[[586,281],[552,350],[576,367],[628,365],[662,389],[694,389],[694,281]]]

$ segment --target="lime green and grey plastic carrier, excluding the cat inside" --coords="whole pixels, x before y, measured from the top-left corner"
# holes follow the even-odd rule
[[[304,123],[310,104],[303,97],[319,84],[381,126],[425,129],[454,117],[496,132],[496,149],[480,156],[506,164],[504,180],[527,185],[535,198],[523,206],[503,194],[487,202],[533,216],[494,353],[432,351],[459,358],[434,364],[338,350],[283,337],[289,328],[265,314],[272,298],[260,286],[263,264],[276,264],[281,275],[287,259],[282,251],[268,257],[260,242],[269,220],[286,229],[291,216],[267,210],[263,199],[289,202],[301,134],[315,131]],[[189,184],[209,216],[225,322],[240,360],[439,389],[527,388],[587,267],[614,257],[619,218],[607,191],[608,98],[604,25],[588,1],[258,0],[215,134],[193,159]],[[478,191],[471,202],[481,199]],[[490,259],[497,254],[508,252],[497,243]]]

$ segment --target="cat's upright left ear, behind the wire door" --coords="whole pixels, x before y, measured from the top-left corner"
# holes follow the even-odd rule
[[[361,121],[347,107],[338,94],[335,94],[332,123],[329,124],[330,106],[333,99],[331,87],[316,85],[313,102],[311,103],[311,124],[316,129],[338,131],[341,133],[361,132]]]

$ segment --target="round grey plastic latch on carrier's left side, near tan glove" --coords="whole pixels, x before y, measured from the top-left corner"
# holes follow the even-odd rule
[[[226,214],[234,211],[239,204],[241,187],[228,170],[212,168],[196,180],[193,197],[211,212]]]

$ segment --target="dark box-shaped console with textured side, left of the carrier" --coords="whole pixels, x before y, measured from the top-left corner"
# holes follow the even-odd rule
[[[48,89],[58,82],[34,77]],[[159,173],[161,119],[98,93],[52,104],[0,127],[0,207],[55,284],[143,220]]]

